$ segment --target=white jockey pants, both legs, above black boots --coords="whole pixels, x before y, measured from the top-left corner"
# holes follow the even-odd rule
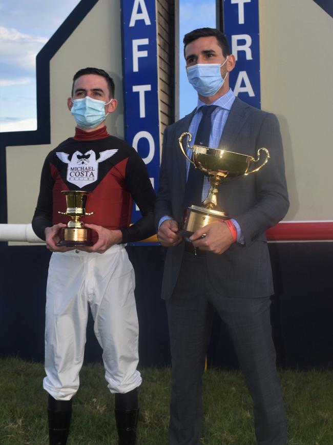
[[[105,253],[53,253],[49,265],[45,326],[44,389],[70,400],[79,387],[88,306],[102,347],[105,378],[112,393],[140,385],[135,277],[123,245]]]

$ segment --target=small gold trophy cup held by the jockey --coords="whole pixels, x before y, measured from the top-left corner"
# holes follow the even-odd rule
[[[93,215],[94,212],[87,213],[86,205],[90,191],[81,190],[62,190],[61,193],[66,195],[66,212],[58,211],[61,215],[71,217],[67,227],[59,230],[60,241],[57,246],[92,246],[91,241],[92,230],[86,228],[80,218]]]

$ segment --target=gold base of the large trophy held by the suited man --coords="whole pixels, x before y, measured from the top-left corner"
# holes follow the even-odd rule
[[[224,211],[191,205],[186,209],[184,224],[183,227],[178,230],[178,233],[184,238],[189,238],[199,228],[211,224],[214,221],[229,218],[230,216]]]

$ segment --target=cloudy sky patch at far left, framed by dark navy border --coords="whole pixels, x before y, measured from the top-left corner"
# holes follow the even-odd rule
[[[35,130],[36,54],[79,0],[0,0],[0,131]]]

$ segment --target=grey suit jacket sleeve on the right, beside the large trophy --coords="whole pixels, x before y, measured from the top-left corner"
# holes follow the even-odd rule
[[[281,221],[289,207],[280,126],[274,114],[267,114],[263,120],[257,138],[257,149],[260,147],[269,148],[270,159],[254,173],[256,204],[236,218],[246,246]]]

